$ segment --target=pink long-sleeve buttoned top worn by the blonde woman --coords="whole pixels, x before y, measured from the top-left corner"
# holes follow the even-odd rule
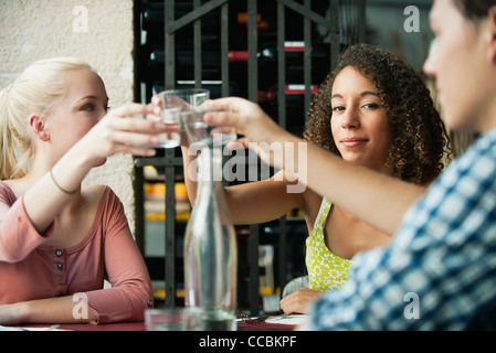
[[[92,228],[75,246],[44,244],[25,213],[23,199],[0,182],[0,304],[74,296],[87,299],[97,323],[140,321],[152,307],[148,270],[129,231],[117,195],[105,188]],[[104,278],[112,288],[103,289]],[[82,312],[80,311],[80,314]]]

